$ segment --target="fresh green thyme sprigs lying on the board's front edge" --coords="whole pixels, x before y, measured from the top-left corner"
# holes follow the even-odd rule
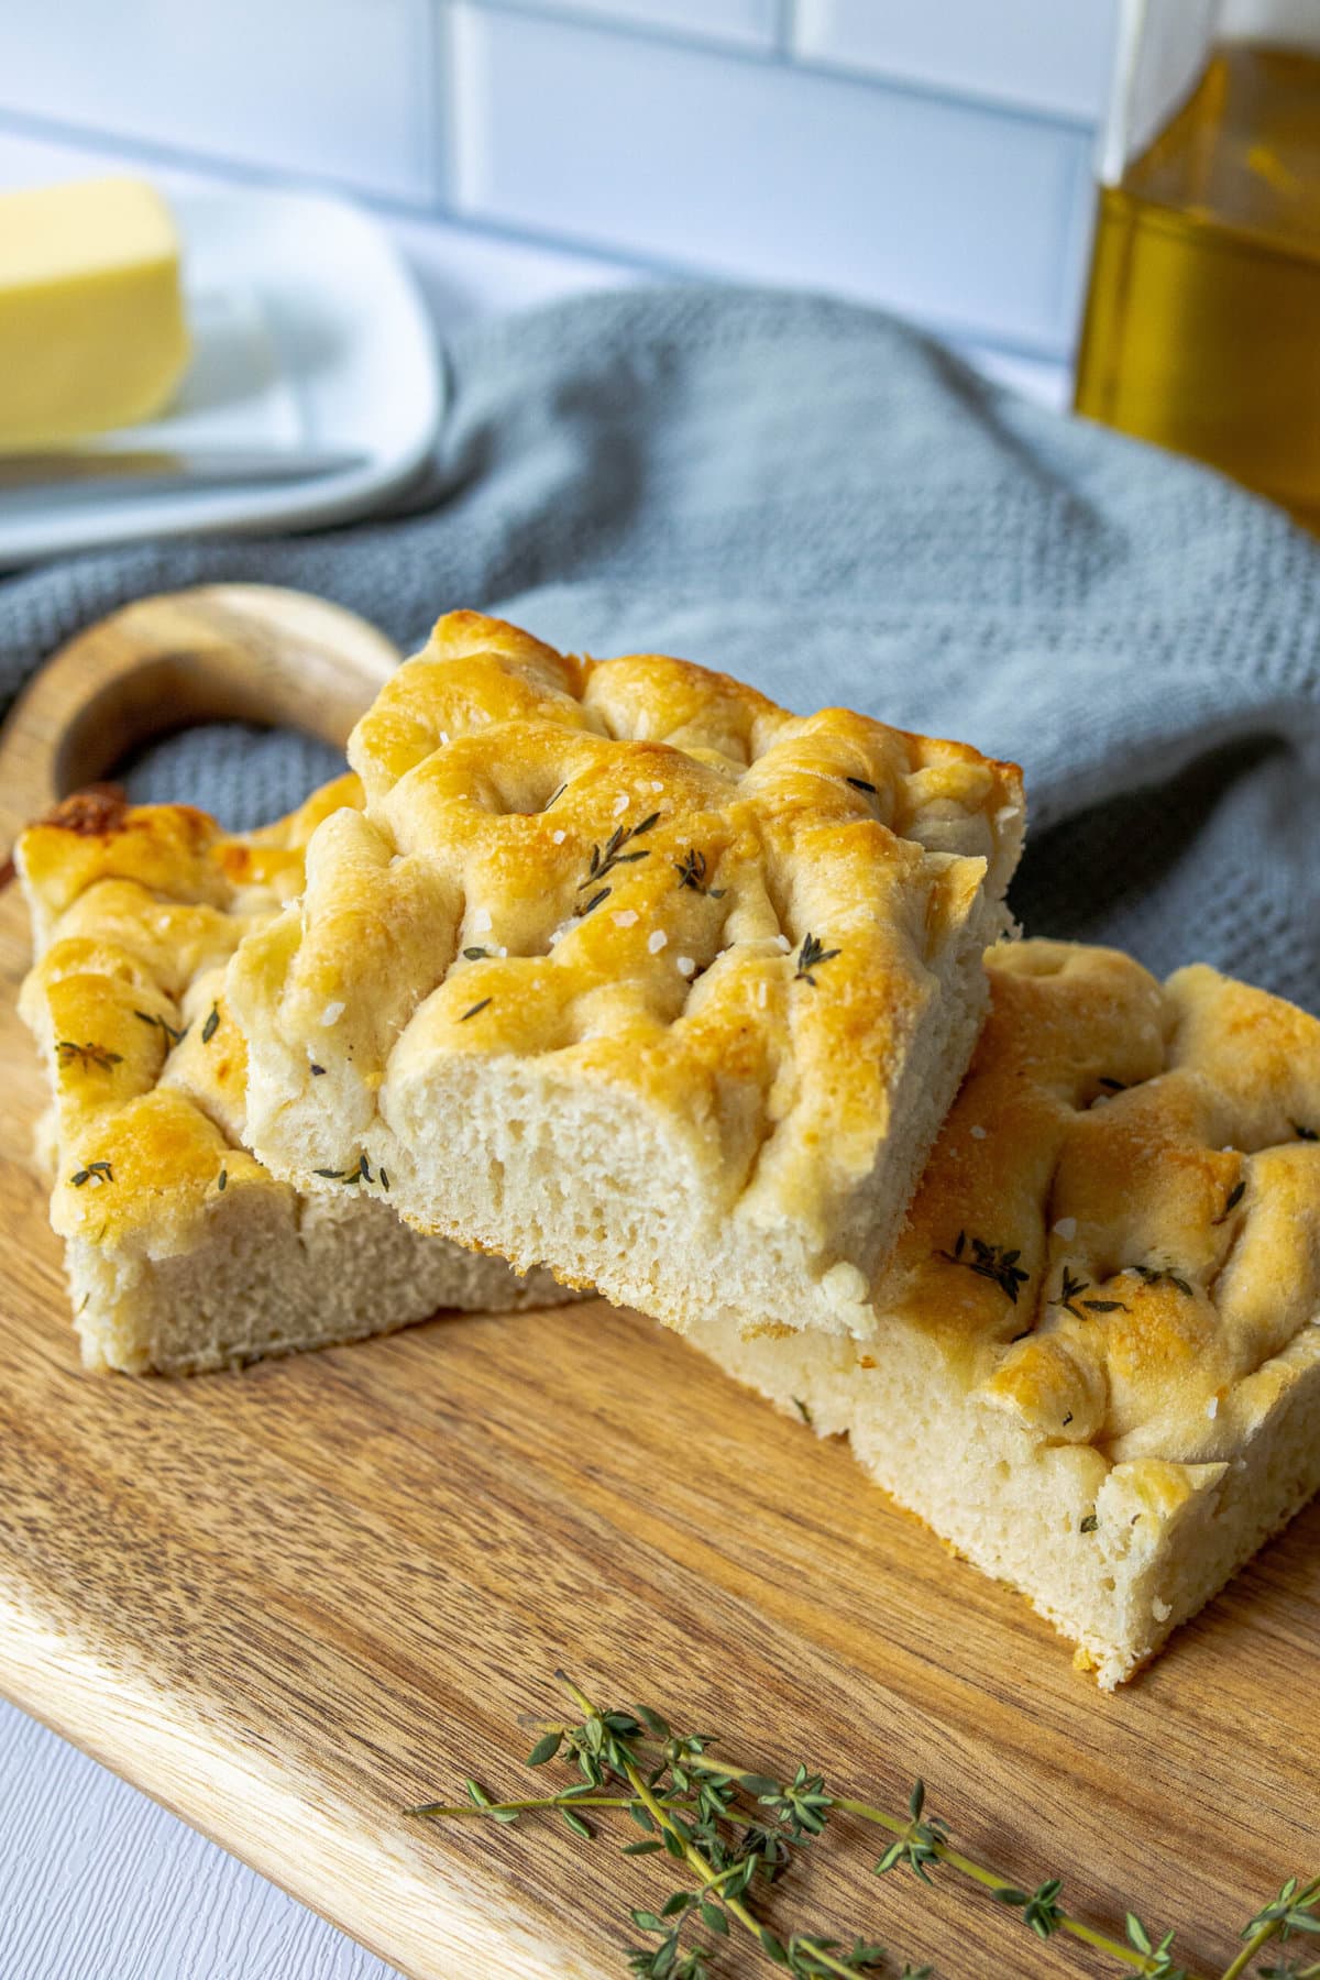
[[[578,1780],[556,1794],[497,1802],[475,1780],[467,1780],[467,1802],[425,1802],[408,1810],[424,1818],[489,1818],[513,1824],[526,1814],[556,1812],[576,1835],[594,1837],[582,1810],[619,1810],[643,1832],[623,1845],[623,1855],[667,1855],[683,1865],[685,1881],[655,1909],[629,1911],[631,1923],[655,1944],[629,1946],[625,1962],[635,1980],[708,1980],[718,1940],[732,1929],[748,1934],[766,1960],[794,1980],[825,1980],[873,1972],[885,1964],[885,1948],[855,1938],[845,1950],[837,1938],[794,1932],[780,1938],[756,1915],[756,1891],[778,1885],[798,1849],[809,1847],[835,1814],[851,1816],[889,1833],[891,1841],[875,1863],[877,1875],[906,1865],[922,1883],[932,1871],[952,1871],[980,1885],[997,1903],[1015,1911],[1037,1938],[1063,1932],[1108,1954],[1144,1980],[1197,1980],[1174,1962],[1174,1932],[1154,1938],[1136,1913],[1126,1913],[1126,1936],[1112,1938],[1073,1917],[1063,1903],[1063,1883],[1047,1877],[1025,1891],[1009,1877],[978,1863],[950,1843],[948,1824],[926,1810],[926,1786],[916,1782],[906,1816],[873,1802],[833,1794],[817,1772],[798,1766],[792,1780],[712,1760],[718,1738],[710,1732],[675,1732],[651,1707],[602,1711],[562,1671],[556,1673],[578,1711],[580,1723],[532,1721],[536,1742],[528,1766],[546,1766],[558,1754],[572,1758]],[[712,1938],[695,1936],[705,1929]],[[1290,1877],[1276,1899],[1243,1927],[1243,1950],[1221,1980],[1243,1980],[1271,1940],[1320,1934],[1320,1877],[1300,1885]],[[928,1966],[904,1966],[900,1980],[928,1980]],[[1320,1980],[1320,1960],[1288,1960],[1257,1968],[1259,1980]]]

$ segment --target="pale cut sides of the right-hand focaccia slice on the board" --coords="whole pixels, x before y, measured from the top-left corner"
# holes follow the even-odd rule
[[[1110,1465],[1090,1445],[1033,1439],[896,1315],[881,1319],[873,1358],[847,1340],[746,1338],[728,1323],[689,1338],[815,1436],[847,1436],[871,1481],[1027,1596],[1102,1691],[1148,1663],[1320,1491],[1320,1325],[1247,1376],[1251,1432],[1237,1457],[1213,1463]]]

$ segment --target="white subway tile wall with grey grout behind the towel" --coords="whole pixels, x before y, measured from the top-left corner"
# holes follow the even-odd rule
[[[1118,0],[0,4],[0,135],[321,178],[1063,366]]]

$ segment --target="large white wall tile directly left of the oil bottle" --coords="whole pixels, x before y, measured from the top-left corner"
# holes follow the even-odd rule
[[[1084,131],[459,0],[461,212],[1057,350]]]

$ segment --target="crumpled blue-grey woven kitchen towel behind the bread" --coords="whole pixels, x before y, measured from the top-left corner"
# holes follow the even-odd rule
[[[0,697],[79,626],[200,580],[305,586],[404,647],[495,608],[1013,756],[1029,933],[1320,1008],[1320,544],[1280,513],[821,297],[594,295],[467,329],[445,368],[406,515],[0,582]],[[329,768],[307,741],[200,731],[131,788],[237,826]]]

